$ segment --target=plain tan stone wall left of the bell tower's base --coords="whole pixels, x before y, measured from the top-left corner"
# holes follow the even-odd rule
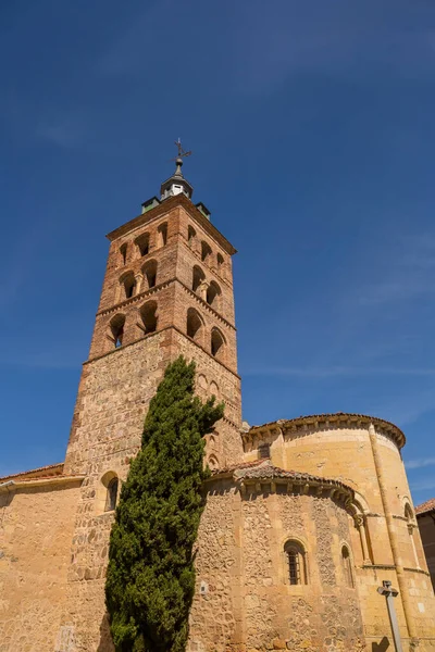
[[[0,650],[57,650],[79,481],[0,493]]]

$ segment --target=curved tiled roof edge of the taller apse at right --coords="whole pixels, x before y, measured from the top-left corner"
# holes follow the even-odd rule
[[[336,412],[334,414],[311,414],[308,416],[298,416],[289,419],[278,419],[276,422],[270,422],[261,426],[252,426],[248,432],[244,432],[245,438],[249,438],[252,435],[259,435],[263,430],[296,430],[299,427],[309,426],[319,429],[325,429],[330,427],[349,427],[349,426],[365,426],[369,427],[371,424],[380,431],[390,438],[393,438],[399,448],[402,448],[406,443],[406,437],[403,432],[395,424],[387,422],[377,416],[370,416],[366,414],[355,414],[351,412]]]

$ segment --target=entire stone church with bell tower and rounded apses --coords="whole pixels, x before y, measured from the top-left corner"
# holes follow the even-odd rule
[[[0,478],[0,652],[113,652],[108,543],[166,365],[225,415],[197,542],[188,652],[435,652],[435,598],[394,424],[241,417],[232,256],[176,170],[108,235],[105,275],[63,463]],[[285,406],[283,406],[285,410]]]

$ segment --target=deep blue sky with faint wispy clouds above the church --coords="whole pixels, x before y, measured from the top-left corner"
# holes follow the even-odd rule
[[[361,412],[435,494],[433,0],[0,7],[0,473],[62,461],[105,265],[181,136],[250,424]]]

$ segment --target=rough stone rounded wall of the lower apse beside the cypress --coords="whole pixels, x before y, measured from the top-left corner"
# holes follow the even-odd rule
[[[262,487],[245,496],[231,480],[210,484],[197,556],[189,652],[360,652],[358,589],[341,567],[351,550],[343,505]],[[307,551],[308,584],[291,586],[288,539]]]

